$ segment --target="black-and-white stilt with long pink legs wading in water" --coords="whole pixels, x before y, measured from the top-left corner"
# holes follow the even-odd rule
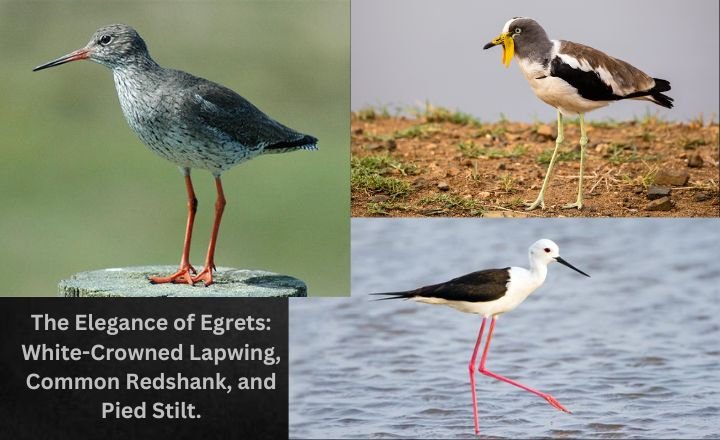
[[[506,267],[504,269],[481,270],[450,281],[420,287],[414,290],[401,292],[373,293],[372,295],[387,295],[382,299],[412,299],[427,304],[444,304],[466,313],[482,315],[475,349],[468,368],[470,370],[470,388],[472,392],[473,417],[475,420],[475,433],[480,432],[477,410],[477,396],[475,394],[475,361],[480,348],[480,340],[485,330],[485,322],[490,320],[485,348],[478,366],[478,371],[486,376],[507,382],[516,387],[522,388],[547,400],[555,408],[570,412],[555,400],[550,394],[543,393],[507,377],[495,374],[485,368],[490,340],[492,339],[495,321],[497,317],[505,312],[513,310],[542,285],[547,276],[547,265],[553,262],[565,266],[589,277],[590,275],[572,266],[560,257],[560,249],[552,240],[538,240],[530,246],[530,270],[523,267]]]

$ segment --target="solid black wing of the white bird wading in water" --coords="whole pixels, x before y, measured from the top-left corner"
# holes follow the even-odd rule
[[[507,292],[510,268],[472,272],[444,283],[433,284],[404,292],[373,293],[390,298],[441,298],[448,301],[487,302],[502,298]]]

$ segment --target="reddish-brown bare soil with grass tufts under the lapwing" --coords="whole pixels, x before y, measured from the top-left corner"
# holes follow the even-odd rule
[[[485,124],[441,108],[416,118],[353,113],[352,215],[720,216],[717,123],[646,117],[586,128],[584,208],[562,209],[576,199],[580,169],[580,128],[566,120],[545,209],[526,212],[555,146],[554,123]]]

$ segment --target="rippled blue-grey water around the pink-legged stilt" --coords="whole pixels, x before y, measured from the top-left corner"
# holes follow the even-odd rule
[[[291,301],[291,437],[472,438],[480,318],[366,294],[526,266],[541,237],[592,278],[552,265],[487,365],[573,414],[478,375],[481,435],[717,438],[717,219],[354,219],[353,297]]]

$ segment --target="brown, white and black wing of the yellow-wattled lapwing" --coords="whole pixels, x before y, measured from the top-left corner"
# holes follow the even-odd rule
[[[663,107],[673,106],[673,99],[661,93],[670,90],[668,81],[651,78],[630,63],[572,41],[560,41],[560,50],[550,64],[550,75],[566,81],[580,96],[593,101],[646,99]]]

